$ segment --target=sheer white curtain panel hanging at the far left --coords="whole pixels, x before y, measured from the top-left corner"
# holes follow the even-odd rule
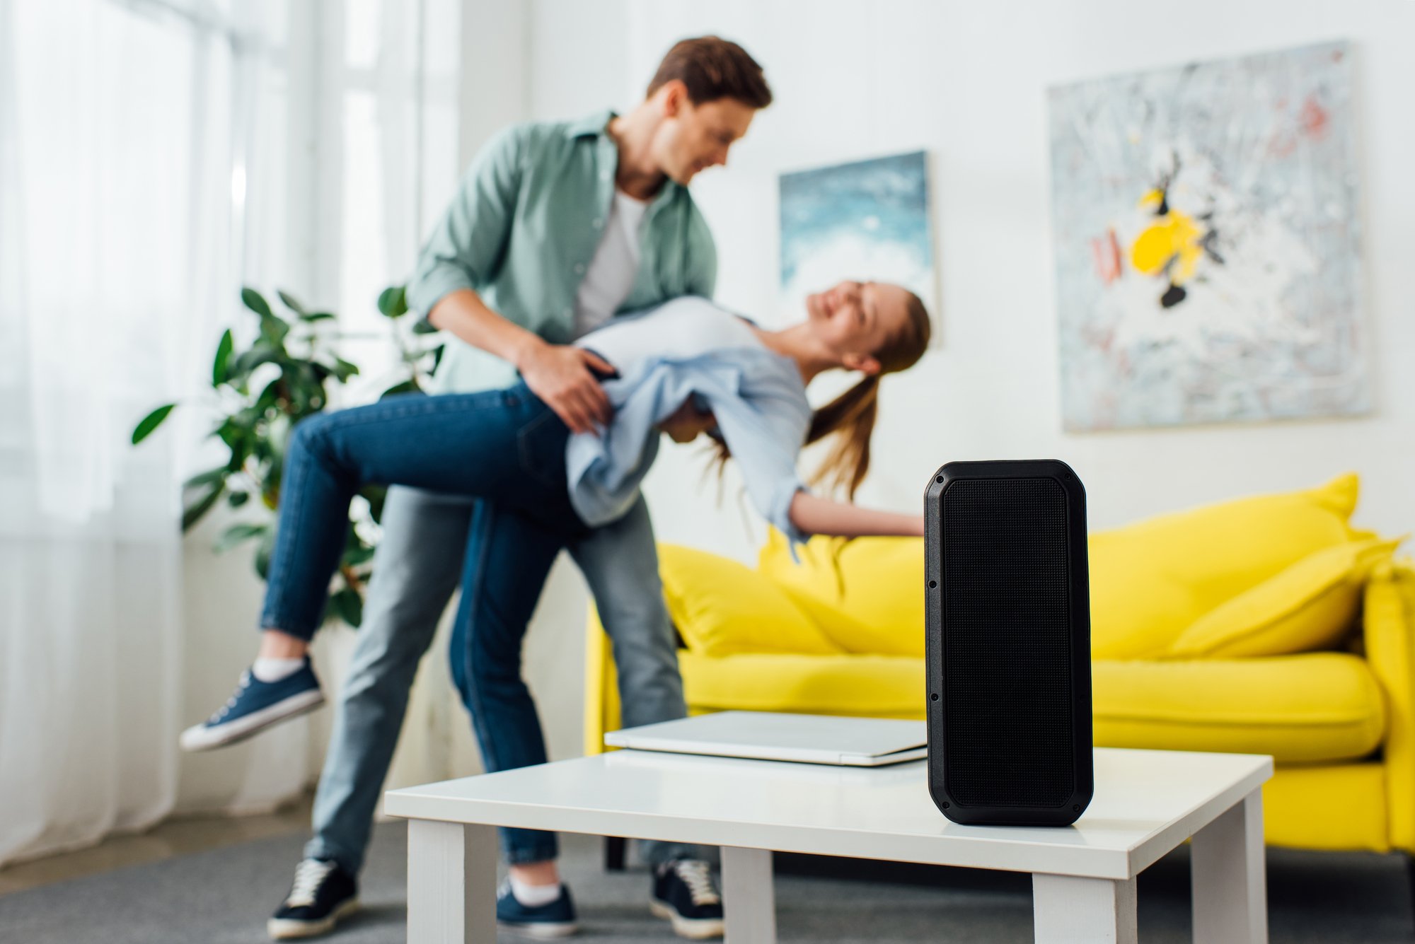
[[[0,44],[3,861],[175,800],[175,456],[126,438],[181,386],[224,233],[191,35],[0,0]]]

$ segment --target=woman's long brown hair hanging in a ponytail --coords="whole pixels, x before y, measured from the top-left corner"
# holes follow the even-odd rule
[[[832,492],[843,485],[850,500],[870,471],[870,434],[874,432],[874,418],[879,414],[880,377],[913,367],[928,348],[928,309],[914,293],[908,293],[906,304],[908,319],[904,328],[887,338],[884,345],[870,355],[880,362],[879,373],[862,379],[811,415],[807,445],[828,435],[836,437],[811,482],[824,485]],[[720,475],[732,452],[726,442],[715,439],[713,454]]]

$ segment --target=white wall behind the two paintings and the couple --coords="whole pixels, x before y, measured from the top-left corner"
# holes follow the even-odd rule
[[[1415,257],[1415,4],[1196,0],[1145,16],[1124,0],[538,0],[528,30],[536,119],[631,107],[664,51],[688,35],[736,40],[766,66],[775,103],[733,148],[730,168],[705,174],[693,192],[717,239],[719,298],[768,321],[792,317],[775,311],[777,175],[928,150],[942,345],[886,382],[862,502],[913,510],[928,475],[949,459],[1056,456],[1087,483],[1091,526],[1108,527],[1356,469],[1358,520],[1387,533],[1415,529],[1415,318],[1404,274]],[[1064,434],[1047,86],[1339,38],[1357,52],[1375,413]],[[750,561],[760,521],[732,479],[719,506],[702,466],[692,447],[664,451],[647,486],[659,537]],[[566,571],[552,581],[528,651],[553,752],[573,752],[579,733],[570,656],[550,644],[579,636],[574,581]]]

